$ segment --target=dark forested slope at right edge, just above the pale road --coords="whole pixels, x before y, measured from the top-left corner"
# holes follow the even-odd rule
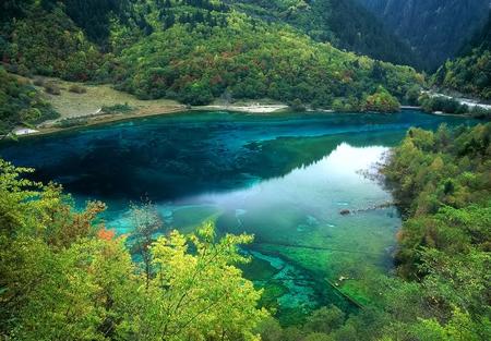
[[[463,54],[443,64],[433,75],[432,83],[491,99],[491,14],[484,28],[463,49]]]

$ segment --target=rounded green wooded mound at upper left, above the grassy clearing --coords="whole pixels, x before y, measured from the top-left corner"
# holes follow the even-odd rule
[[[61,8],[45,11],[34,4],[25,17],[8,25],[11,41],[3,48],[3,62],[10,64],[11,71],[71,81],[94,76],[101,56]]]

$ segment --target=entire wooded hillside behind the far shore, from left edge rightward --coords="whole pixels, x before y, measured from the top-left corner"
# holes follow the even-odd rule
[[[360,110],[380,86],[404,100],[422,83],[410,68],[315,42],[221,1],[33,1],[9,11],[0,52],[10,71],[112,83],[143,99],[270,97]]]

